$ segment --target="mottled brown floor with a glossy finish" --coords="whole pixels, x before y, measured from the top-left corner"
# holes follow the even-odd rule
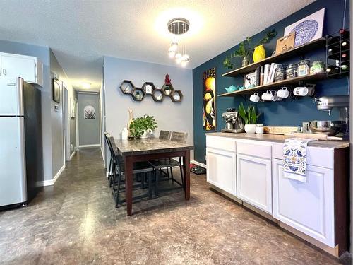
[[[0,264],[340,264],[212,192],[191,175],[177,191],[133,204],[114,200],[97,149],[67,164],[28,207],[0,212]]]

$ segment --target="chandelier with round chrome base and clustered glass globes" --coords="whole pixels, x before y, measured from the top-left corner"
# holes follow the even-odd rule
[[[173,18],[172,20],[169,20],[167,25],[169,33],[175,35],[168,49],[168,55],[170,58],[174,58],[175,61],[177,61],[177,64],[181,64],[181,66],[185,67],[189,63],[190,57],[186,54],[185,45],[180,47],[181,45],[178,43],[177,36],[182,35],[189,30],[189,20],[186,20],[185,18]]]

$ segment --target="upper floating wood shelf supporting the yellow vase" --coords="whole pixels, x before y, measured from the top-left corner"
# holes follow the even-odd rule
[[[273,56],[267,57],[261,61],[258,61],[253,64],[249,64],[247,66],[229,71],[227,73],[223,73],[222,76],[237,76],[239,73],[250,73],[251,71],[255,71],[258,66],[263,64],[271,64],[274,62],[278,62],[290,57],[293,57],[296,54],[305,54],[314,48],[325,47],[326,45],[326,38],[321,37],[318,40],[313,40],[312,42],[308,42],[305,45],[301,45],[299,47],[295,47],[293,49],[289,49],[287,52],[281,52],[280,54],[275,54]]]

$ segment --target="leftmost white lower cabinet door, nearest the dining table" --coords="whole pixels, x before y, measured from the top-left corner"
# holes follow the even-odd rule
[[[207,148],[207,181],[237,196],[235,152]]]

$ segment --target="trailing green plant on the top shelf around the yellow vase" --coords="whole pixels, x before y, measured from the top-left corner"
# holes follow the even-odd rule
[[[270,40],[276,35],[277,35],[276,30],[273,29],[268,31],[265,37],[263,37],[254,47],[270,42]],[[233,59],[234,57],[244,57],[249,59],[250,54],[253,52],[254,47],[251,47],[251,37],[246,37],[246,40],[244,40],[239,44],[239,49],[237,49],[237,51],[233,52],[232,54],[229,54],[225,58],[225,61],[223,61],[223,66],[225,66],[228,69],[233,69],[234,65],[232,64],[231,59]]]

